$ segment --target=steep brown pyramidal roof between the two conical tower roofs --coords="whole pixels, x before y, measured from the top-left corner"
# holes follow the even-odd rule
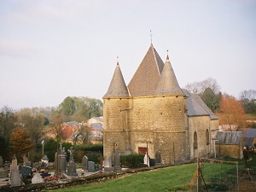
[[[164,62],[156,52],[153,44],[150,45],[147,54],[133,75],[128,90],[131,96],[152,96],[160,80]]]

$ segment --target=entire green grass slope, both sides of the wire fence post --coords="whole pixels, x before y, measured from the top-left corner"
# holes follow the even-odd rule
[[[251,153],[251,168],[256,168],[256,154]],[[225,161],[238,161],[239,169],[246,168],[244,160],[236,160],[223,157]],[[196,164],[172,166],[149,172],[137,172],[129,177],[116,178],[100,183],[90,183],[64,189],[53,190],[54,192],[160,192],[160,191],[189,191],[189,183],[194,177]],[[224,191],[236,184],[236,164],[211,164],[203,163],[201,172],[207,183],[208,191]],[[196,185],[196,178],[194,187]],[[204,185],[201,182],[201,188]],[[195,188],[194,188],[195,189]]]

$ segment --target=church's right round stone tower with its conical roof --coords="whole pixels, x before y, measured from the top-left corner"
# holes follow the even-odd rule
[[[187,160],[189,155],[186,103],[167,55],[154,92],[154,151],[160,152],[168,163]]]

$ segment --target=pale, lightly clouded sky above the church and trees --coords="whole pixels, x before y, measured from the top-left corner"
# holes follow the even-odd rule
[[[151,39],[181,88],[256,90],[256,0],[0,0],[0,108],[102,100],[117,57],[129,84]]]

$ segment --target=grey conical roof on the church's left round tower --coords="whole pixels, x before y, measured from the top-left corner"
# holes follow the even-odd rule
[[[103,96],[103,98],[104,97],[126,97],[126,96],[129,96],[129,92],[127,90],[125,80],[118,62],[115,67],[115,71],[113,73],[113,78],[111,80],[111,83],[109,84],[108,92],[105,94],[105,96]]]

